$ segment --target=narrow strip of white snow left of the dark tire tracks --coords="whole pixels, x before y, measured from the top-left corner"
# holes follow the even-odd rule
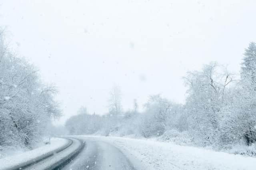
[[[23,152],[20,154],[15,154],[13,156],[6,156],[0,159],[0,170],[10,169],[11,167],[16,167],[21,164],[26,164],[31,160],[38,160],[39,157],[49,154],[54,150],[58,150],[62,147],[68,145],[70,141],[62,138],[52,138],[49,145],[44,145],[36,149]]]

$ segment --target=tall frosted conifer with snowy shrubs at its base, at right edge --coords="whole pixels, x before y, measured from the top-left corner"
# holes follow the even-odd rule
[[[256,44],[245,49],[241,80],[233,90],[230,104],[224,109],[222,141],[228,145],[256,142]]]

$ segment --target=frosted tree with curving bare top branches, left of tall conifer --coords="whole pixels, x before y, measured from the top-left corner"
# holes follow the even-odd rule
[[[188,72],[184,77],[188,86],[185,109],[189,117],[190,129],[201,145],[216,142],[219,132],[221,108],[225,105],[226,88],[233,78],[226,67],[210,63],[202,71]]]

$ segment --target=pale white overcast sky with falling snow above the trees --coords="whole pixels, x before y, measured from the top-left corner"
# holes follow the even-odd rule
[[[0,0],[10,46],[59,88],[64,117],[80,106],[108,111],[110,88],[124,109],[150,94],[184,102],[181,76],[218,61],[239,71],[256,41],[254,0]]]

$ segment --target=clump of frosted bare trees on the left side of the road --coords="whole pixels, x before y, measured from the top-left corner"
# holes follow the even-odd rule
[[[29,148],[42,138],[51,118],[61,114],[56,92],[42,84],[32,64],[8,49],[0,31],[0,149]]]

